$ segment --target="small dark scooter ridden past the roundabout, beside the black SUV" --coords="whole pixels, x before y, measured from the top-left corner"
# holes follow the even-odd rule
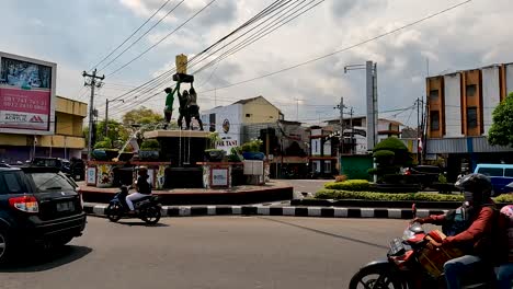
[[[109,220],[117,222],[123,217],[137,217],[148,224],[158,223],[161,217],[159,197],[148,195],[147,197],[134,201],[135,213],[128,215],[129,208],[126,204],[128,190],[129,187],[122,186],[119,193],[109,203],[109,207],[105,209],[105,215]]]

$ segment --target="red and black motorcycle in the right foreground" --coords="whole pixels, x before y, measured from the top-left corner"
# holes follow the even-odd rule
[[[415,212],[413,205],[413,217]],[[401,239],[390,242],[387,259],[365,265],[351,278],[349,288],[445,288],[443,265],[463,252],[430,245],[442,243],[444,236],[437,230],[425,232],[418,222],[410,223]],[[493,288],[495,275],[491,266],[482,264],[468,276],[464,288]]]

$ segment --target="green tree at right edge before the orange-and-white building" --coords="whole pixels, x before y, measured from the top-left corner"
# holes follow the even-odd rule
[[[492,116],[488,142],[492,146],[513,147],[513,92],[495,107]]]

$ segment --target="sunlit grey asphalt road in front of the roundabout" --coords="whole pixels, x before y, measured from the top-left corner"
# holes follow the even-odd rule
[[[0,267],[18,288],[347,288],[361,265],[383,258],[403,220],[292,217],[89,218],[61,251]]]

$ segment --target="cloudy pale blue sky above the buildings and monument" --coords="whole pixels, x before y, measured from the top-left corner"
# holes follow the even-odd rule
[[[305,3],[309,2],[306,1]],[[125,41],[161,7],[164,0],[0,0],[2,37],[0,51],[56,62],[57,94],[89,102],[82,71],[91,69]],[[128,44],[164,16],[180,0],[171,0]],[[176,30],[210,0],[185,0],[118,59],[98,68],[106,74],[95,96],[104,113],[105,99],[114,99],[171,69],[174,57],[192,57],[271,4],[272,0],[215,0],[196,18]],[[324,0],[272,34],[195,76],[202,109],[228,105],[262,95],[285,114],[287,120],[318,123],[337,118],[333,106],[344,97],[355,115],[365,113],[365,71],[344,73],[347,65],[377,62],[379,117],[417,124],[413,109],[388,112],[413,105],[425,95],[425,77],[513,61],[513,37],[509,20],[511,0],[472,0],[461,7],[358,45],[331,57],[283,73],[223,89],[317,57],[351,47],[363,41],[436,13],[464,0]],[[111,72],[174,34],[139,59]],[[113,56],[116,56],[114,54]],[[429,65],[428,65],[429,63]],[[172,85],[163,83],[162,85]],[[138,96],[139,100],[144,99]],[[164,93],[142,105],[161,112]],[[113,117],[134,100],[111,104]],[[347,111],[349,112],[349,111]],[[388,113],[387,113],[388,112]]]

